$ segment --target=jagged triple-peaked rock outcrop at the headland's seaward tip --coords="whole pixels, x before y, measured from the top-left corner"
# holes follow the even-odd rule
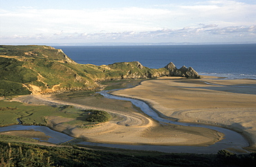
[[[170,62],[165,68],[170,71],[170,77],[201,78],[192,67],[187,68],[186,66],[182,66],[178,69],[174,63]]]

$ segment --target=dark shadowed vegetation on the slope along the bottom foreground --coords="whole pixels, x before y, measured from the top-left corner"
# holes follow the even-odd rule
[[[255,166],[256,154],[166,154],[133,150],[87,150],[0,141],[0,166]],[[226,159],[226,160],[225,160]],[[231,160],[231,159],[230,159]]]

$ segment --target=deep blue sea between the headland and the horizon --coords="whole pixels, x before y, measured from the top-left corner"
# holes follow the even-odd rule
[[[108,65],[139,61],[148,68],[192,67],[199,75],[256,79],[256,43],[167,46],[53,46],[77,63]]]

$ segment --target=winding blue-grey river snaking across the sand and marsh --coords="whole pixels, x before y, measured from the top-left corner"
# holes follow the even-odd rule
[[[233,148],[238,150],[244,150],[243,147],[249,146],[248,141],[240,135],[238,132],[220,128],[216,126],[208,126],[203,124],[190,124],[190,123],[183,123],[179,121],[171,121],[169,119],[163,119],[158,116],[158,114],[152,110],[144,101],[140,101],[138,99],[131,99],[127,97],[118,97],[115,95],[111,95],[108,91],[103,90],[100,92],[105,98],[109,99],[119,99],[125,101],[131,101],[132,104],[139,107],[145,114],[149,117],[152,117],[156,121],[161,122],[162,124],[175,124],[180,126],[196,126],[201,128],[209,128],[212,130],[217,130],[218,132],[222,132],[225,137],[221,141],[218,141],[215,144],[210,146],[152,146],[152,145],[143,145],[143,146],[134,146],[134,145],[122,145],[122,144],[100,144],[100,143],[92,143],[86,141],[80,141],[77,144],[83,144],[87,146],[102,146],[102,147],[109,147],[109,148],[122,148],[122,149],[131,149],[131,150],[151,150],[151,151],[160,151],[163,153],[199,153],[199,154],[216,154],[221,149],[226,148]],[[44,132],[49,138],[46,139],[38,139],[39,141],[48,141],[53,144],[62,144],[66,141],[70,141],[74,139],[68,135],[65,135],[61,132],[56,132],[51,130],[45,126],[23,126],[23,125],[15,125],[15,126],[7,126],[1,127],[0,132],[2,131],[10,131],[10,130],[37,130],[40,132]]]

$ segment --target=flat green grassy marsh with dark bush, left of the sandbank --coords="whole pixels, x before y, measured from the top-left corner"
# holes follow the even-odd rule
[[[78,127],[94,125],[109,121],[111,115],[100,110],[80,110],[74,106],[66,105],[59,107],[52,106],[28,106],[19,102],[0,101],[0,126],[23,125],[47,125],[47,116],[60,116],[72,118],[73,121],[66,122]],[[19,121],[17,121],[19,119]]]

